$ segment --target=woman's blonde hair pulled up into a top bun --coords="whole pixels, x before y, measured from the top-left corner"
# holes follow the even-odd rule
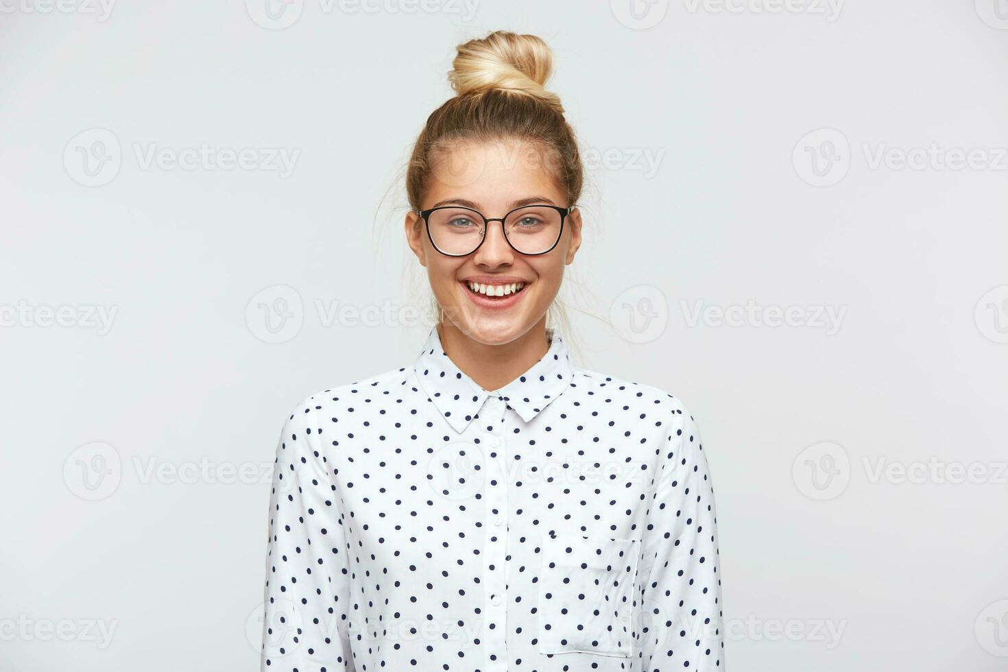
[[[553,70],[549,46],[536,35],[495,30],[459,44],[456,50],[448,74],[456,96],[427,117],[406,167],[411,209],[421,210],[442,152],[456,143],[498,141],[543,150],[548,156],[545,168],[563,192],[564,205],[574,206],[581,197],[585,168],[560,99],[544,87]],[[569,324],[562,306],[554,302],[550,310]],[[566,335],[566,330],[561,333]]]

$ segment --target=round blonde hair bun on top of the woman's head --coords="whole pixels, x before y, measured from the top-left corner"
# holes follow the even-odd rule
[[[456,47],[458,55],[448,74],[459,96],[481,94],[492,89],[530,96],[560,114],[559,96],[543,85],[552,75],[553,53],[536,35],[495,30]]]

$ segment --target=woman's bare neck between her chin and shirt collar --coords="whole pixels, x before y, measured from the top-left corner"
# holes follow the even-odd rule
[[[448,320],[438,322],[437,333],[455,366],[489,392],[506,386],[549,352],[545,317],[514,341],[500,345],[480,343]]]

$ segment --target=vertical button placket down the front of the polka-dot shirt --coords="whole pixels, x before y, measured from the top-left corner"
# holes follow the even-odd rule
[[[485,631],[487,636],[487,669],[495,672],[507,670],[507,591],[506,567],[507,556],[507,463],[505,460],[504,440],[500,433],[500,419],[503,414],[503,402],[494,397],[484,408],[487,418],[483,425],[485,431],[481,441],[486,446],[486,543],[484,545],[484,594],[486,620],[494,624],[493,630]]]

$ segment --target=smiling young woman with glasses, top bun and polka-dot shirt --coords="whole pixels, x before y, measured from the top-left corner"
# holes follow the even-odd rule
[[[262,669],[724,669],[697,422],[546,326],[583,177],[550,51],[498,31],[454,66],[406,176],[439,321],[408,366],[287,418]]]

